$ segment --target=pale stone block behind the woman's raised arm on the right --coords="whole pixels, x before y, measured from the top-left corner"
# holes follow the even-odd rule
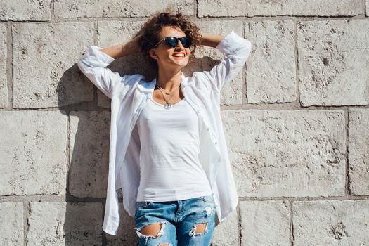
[[[242,22],[240,21],[204,21],[195,22],[200,27],[200,33],[212,33],[226,36],[234,31],[242,37]],[[226,58],[223,53],[216,48],[204,46],[195,51],[195,62],[183,70],[186,75],[192,75],[193,72],[209,71],[215,65],[219,64],[221,60]],[[228,84],[225,84],[221,90],[221,105],[240,105],[242,104],[242,84],[243,71]]]

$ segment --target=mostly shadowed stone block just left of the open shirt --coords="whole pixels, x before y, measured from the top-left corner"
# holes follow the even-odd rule
[[[103,198],[108,186],[110,112],[70,113],[70,194]],[[89,170],[89,171],[86,171]]]

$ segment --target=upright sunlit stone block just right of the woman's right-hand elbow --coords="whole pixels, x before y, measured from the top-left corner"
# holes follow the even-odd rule
[[[294,23],[292,20],[245,22],[252,39],[247,60],[247,103],[287,103],[296,99]]]

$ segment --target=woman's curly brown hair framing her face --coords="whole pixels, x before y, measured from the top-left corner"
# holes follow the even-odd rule
[[[138,45],[141,51],[148,56],[151,65],[156,67],[157,62],[148,55],[148,51],[157,44],[159,41],[158,34],[162,30],[162,27],[165,26],[179,27],[187,37],[190,37],[190,60],[193,59],[193,53],[195,53],[196,48],[201,45],[201,35],[199,33],[199,27],[191,22],[189,18],[188,15],[183,15],[179,11],[177,11],[177,13],[172,13],[169,10],[167,12],[156,13],[150,20],[143,24],[139,32],[142,34],[142,37],[138,41]]]

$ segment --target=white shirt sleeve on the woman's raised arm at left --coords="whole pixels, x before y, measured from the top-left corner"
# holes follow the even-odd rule
[[[106,68],[115,59],[103,53],[98,46],[90,46],[89,50],[79,58],[77,65],[87,78],[103,92],[108,98],[112,98],[115,84],[122,80],[118,72],[112,72]]]

